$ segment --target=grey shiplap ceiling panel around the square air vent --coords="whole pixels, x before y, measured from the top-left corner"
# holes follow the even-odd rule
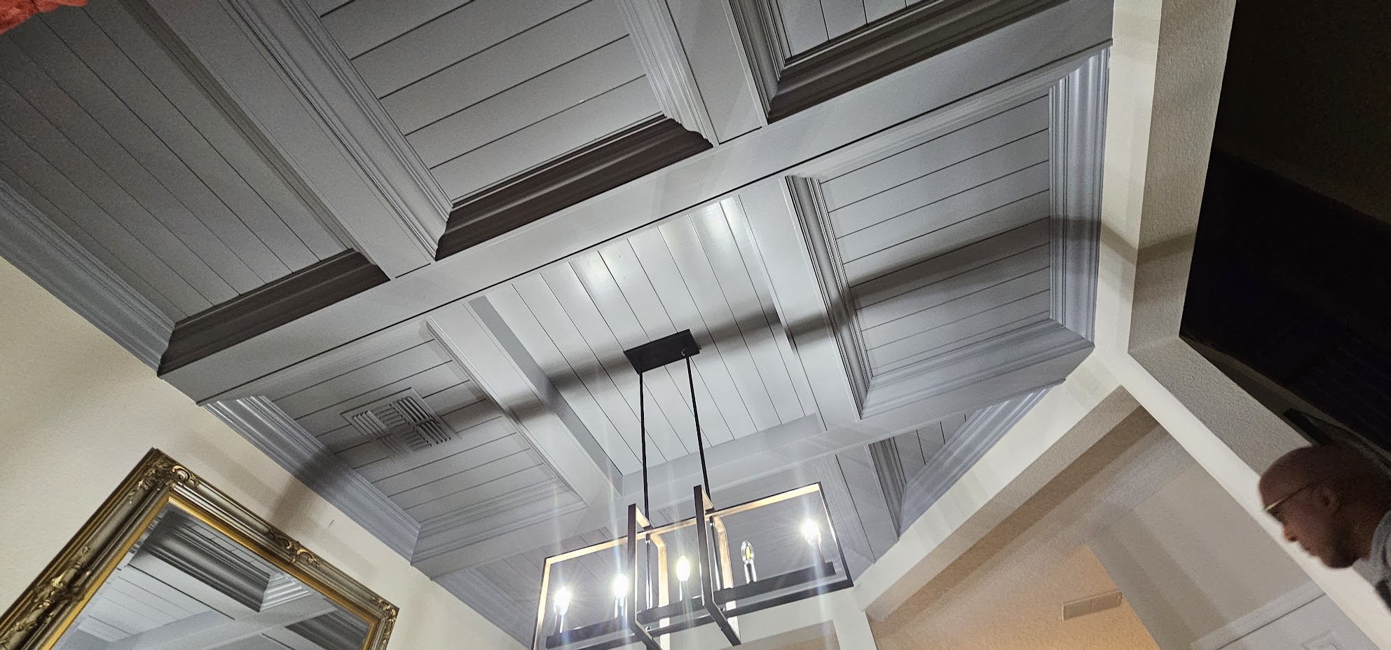
[[[427,522],[505,498],[526,501],[537,489],[562,487],[512,420],[440,342],[412,331],[373,352],[359,358],[356,367],[285,387],[274,401],[408,515]],[[403,391],[415,391],[438,416],[449,440],[392,454],[348,419]]]

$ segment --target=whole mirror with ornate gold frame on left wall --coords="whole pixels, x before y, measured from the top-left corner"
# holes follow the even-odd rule
[[[380,650],[395,617],[154,450],[0,618],[0,649]]]

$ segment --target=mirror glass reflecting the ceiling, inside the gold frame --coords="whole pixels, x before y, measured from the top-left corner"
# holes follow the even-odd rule
[[[56,650],[359,650],[369,626],[166,505]]]

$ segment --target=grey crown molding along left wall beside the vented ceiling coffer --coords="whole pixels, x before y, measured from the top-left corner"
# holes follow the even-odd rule
[[[420,523],[264,397],[204,406],[310,490],[410,560]]]

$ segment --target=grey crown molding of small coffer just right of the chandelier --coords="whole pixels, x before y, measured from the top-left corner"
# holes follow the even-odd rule
[[[918,521],[1046,393],[1047,388],[1027,393],[971,415],[965,426],[904,484],[899,529],[906,530]]]

